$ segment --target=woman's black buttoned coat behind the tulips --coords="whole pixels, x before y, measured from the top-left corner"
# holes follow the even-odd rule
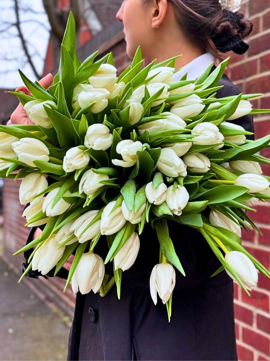
[[[224,75],[217,97],[239,94]],[[252,117],[234,121],[253,132]],[[222,271],[206,240],[195,229],[169,224],[170,236],[186,277],[176,271],[172,317],[166,306],[155,306],[149,290],[150,273],[159,261],[159,243],[149,225],[140,236],[135,264],[123,272],[121,300],[113,286],[102,298],[90,292],[76,297],[68,360],[237,360],[233,281]],[[104,257],[107,242],[95,252]],[[112,264],[105,272],[113,275]]]

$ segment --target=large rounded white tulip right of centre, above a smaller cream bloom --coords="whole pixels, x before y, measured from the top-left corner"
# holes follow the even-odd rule
[[[199,123],[192,129],[191,134],[196,135],[196,137],[192,140],[194,144],[211,145],[222,143],[224,141],[224,136],[219,131],[219,128],[213,123]],[[223,143],[215,147],[215,149],[222,147]]]

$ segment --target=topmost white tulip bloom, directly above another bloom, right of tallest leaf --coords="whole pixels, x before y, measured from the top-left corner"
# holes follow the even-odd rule
[[[109,89],[117,81],[117,69],[111,64],[101,64],[98,70],[88,80],[95,88]]]

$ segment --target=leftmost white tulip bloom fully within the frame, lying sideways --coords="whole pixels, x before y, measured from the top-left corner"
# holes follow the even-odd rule
[[[17,154],[20,162],[35,168],[34,160],[49,161],[49,149],[39,139],[21,138],[12,143],[12,149]]]

